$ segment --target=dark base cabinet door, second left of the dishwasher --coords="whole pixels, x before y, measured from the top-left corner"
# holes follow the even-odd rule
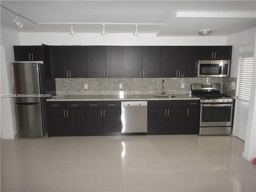
[[[103,134],[103,110],[86,109],[85,110],[85,132],[87,135]]]

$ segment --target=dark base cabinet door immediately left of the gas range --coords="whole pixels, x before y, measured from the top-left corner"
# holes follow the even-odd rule
[[[186,134],[196,134],[199,128],[199,107],[187,108]]]

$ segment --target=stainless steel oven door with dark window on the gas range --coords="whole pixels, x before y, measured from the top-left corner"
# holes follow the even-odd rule
[[[233,103],[201,104],[200,127],[231,126]]]

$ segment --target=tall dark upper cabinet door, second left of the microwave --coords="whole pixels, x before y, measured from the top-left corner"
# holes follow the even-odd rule
[[[160,77],[176,77],[178,75],[178,46],[162,46]]]

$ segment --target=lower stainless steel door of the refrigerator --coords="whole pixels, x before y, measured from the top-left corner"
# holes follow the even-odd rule
[[[15,103],[18,137],[42,137],[41,103]]]

